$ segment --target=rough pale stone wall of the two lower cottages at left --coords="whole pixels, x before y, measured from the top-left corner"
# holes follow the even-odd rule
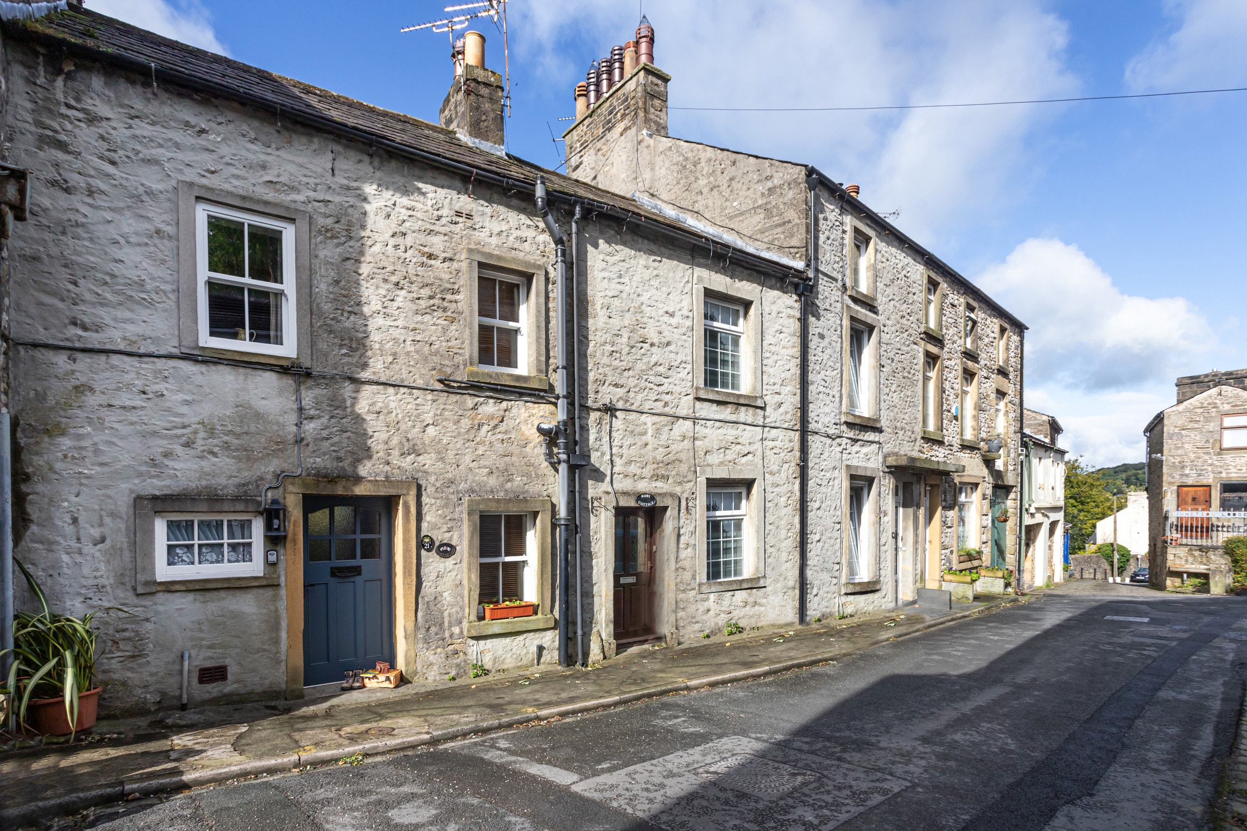
[[[141,76],[11,46],[10,159],[35,171],[26,240],[16,252],[15,336],[130,350],[178,351],[176,186],[190,181],[312,216],[312,366],[431,384],[464,374],[465,247],[552,262],[530,201],[421,164],[369,152],[207,97],[152,90]],[[569,217],[561,217],[565,223]],[[594,249],[584,331],[590,401],[615,399],[682,415],[761,421],[756,410],[691,397],[696,270],[759,278],[691,258],[611,226],[585,223]],[[72,240],[66,245],[65,240]],[[552,283],[552,280],[550,280]],[[552,285],[551,285],[552,292]],[[552,308],[552,298],[535,298]],[[796,424],[793,299],[769,280],[767,421]],[[609,326],[606,324],[610,324]],[[549,333],[545,334],[549,339]],[[552,355],[552,349],[550,353]],[[279,694],[283,587],[135,593],[136,496],[258,496],[294,468],[289,376],[263,368],[54,351],[16,351],[17,556],[70,612],[118,605],[101,677],[111,710],[171,705],[180,655],[229,664],[228,684],[192,703]],[[554,471],[535,431],[546,405],[360,384],[323,375],[303,385],[306,476],[414,478],[418,533],[463,551],[466,497],[547,497]],[[591,432],[590,491],[604,501],[605,416]],[[764,467],[767,586],[697,596],[693,536],[680,531],[682,632],[731,615],[757,625],[796,617],[796,437],[789,431],[617,415],[615,487],[692,493],[695,465]],[[587,497],[586,497],[587,501]],[[611,533],[610,512],[590,518]],[[148,556],[140,552],[138,556]],[[302,556],[288,552],[288,556]],[[585,553],[586,563],[590,552]],[[586,620],[602,617],[609,573],[586,568]],[[596,581],[596,583],[594,583]],[[464,559],[419,566],[421,678],[463,673]],[[596,594],[595,594],[596,592]],[[731,597],[728,597],[731,594]],[[687,598],[687,599],[686,599]],[[30,602],[30,598],[21,598]],[[609,602],[609,598],[607,598]],[[601,637],[602,633],[599,633]],[[556,652],[542,630],[483,639],[494,667]]]

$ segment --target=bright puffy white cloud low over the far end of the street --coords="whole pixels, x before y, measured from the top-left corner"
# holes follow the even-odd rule
[[[1142,430],[1175,401],[1173,379],[1207,371],[1217,346],[1183,298],[1124,294],[1076,245],[1028,239],[975,280],[1030,326],[1026,406],[1091,465],[1142,461]]]

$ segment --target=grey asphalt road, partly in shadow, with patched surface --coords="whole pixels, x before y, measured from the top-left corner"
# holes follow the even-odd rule
[[[1071,587],[832,667],[203,789],[97,827],[1203,829],[1245,615],[1247,598]]]

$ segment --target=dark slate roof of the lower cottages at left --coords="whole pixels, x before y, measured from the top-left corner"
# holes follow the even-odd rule
[[[675,234],[731,254],[741,265],[762,268],[799,277],[799,272],[766,257],[711,238],[682,223],[668,219],[611,191],[596,188],[555,173],[515,156],[498,156],[478,150],[439,125],[383,110],[328,90],[283,77],[239,61],[170,40],[131,26],[90,9],[70,7],[32,21],[7,21],[6,36],[31,40],[66,51],[111,62],[147,77],[157,85],[182,86],[206,91],[239,103],[269,110],[293,122],[313,128],[332,130],[359,141],[375,140],[379,147],[425,158],[439,159],[465,176],[476,172],[480,179],[531,192],[537,174],[546,179],[551,198],[564,202],[582,199],[589,209],[631,223],[633,230]],[[464,169],[460,169],[464,168]]]

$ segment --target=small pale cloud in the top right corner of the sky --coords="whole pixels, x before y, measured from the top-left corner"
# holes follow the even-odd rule
[[[1177,29],[1153,41],[1126,66],[1135,92],[1172,92],[1196,86],[1242,86],[1247,80],[1247,2],[1166,0]]]

